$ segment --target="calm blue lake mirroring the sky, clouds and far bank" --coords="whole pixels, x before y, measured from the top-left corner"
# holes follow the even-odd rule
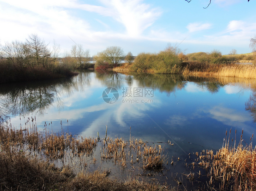
[[[101,139],[107,125],[113,139],[129,140],[131,132],[134,139],[162,144],[168,161],[179,158],[182,166],[190,153],[220,149],[230,129],[230,139],[237,130],[239,140],[243,130],[244,142],[250,142],[256,81],[81,71],[67,79],[0,85],[0,116],[16,128],[36,117],[39,130],[47,125],[83,137],[99,133]],[[185,169],[167,168],[170,179]]]

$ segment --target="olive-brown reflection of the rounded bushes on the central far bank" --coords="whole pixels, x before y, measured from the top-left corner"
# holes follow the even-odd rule
[[[186,77],[177,74],[138,74],[134,72],[124,75],[113,71],[99,70],[96,71],[96,78],[107,87],[115,87],[117,89],[121,89],[125,85],[131,87],[133,81],[136,80],[138,87],[154,87],[167,94],[173,93],[177,89],[183,89],[187,82],[195,82],[202,89],[205,88],[211,93],[217,93],[224,86],[224,84],[217,82],[216,79]],[[126,83],[123,83],[123,81],[126,81]]]

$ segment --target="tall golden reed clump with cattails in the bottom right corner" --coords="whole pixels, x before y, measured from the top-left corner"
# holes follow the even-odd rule
[[[199,155],[199,165],[208,171],[208,185],[212,189],[256,190],[256,152],[255,148],[252,148],[253,134],[250,144],[246,146],[243,146],[245,142],[242,136],[243,131],[236,147],[236,140],[231,140],[230,135],[227,137],[226,132],[223,147],[215,155],[212,150],[202,151]]]

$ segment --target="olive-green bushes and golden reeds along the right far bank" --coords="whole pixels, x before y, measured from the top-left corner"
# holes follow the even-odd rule
[[[238,68],[236,64],[238,62],[254,63],[255,53],[222,55],[220,51],[213,50],[211,52],[196,52],[186,55],[176,46],[168,45],[165,50],[158,53],[139,53],[134,61],[122,64],[113,70],[157,74],[198,74],[198,72],[207,74],[210,72],[210,75],[213,73],[217,75],[217,73],[220,74],[219,71],[223,67],[232,66]],[[244,68],[246,70],[247,68],[249,69],[249,67]]]

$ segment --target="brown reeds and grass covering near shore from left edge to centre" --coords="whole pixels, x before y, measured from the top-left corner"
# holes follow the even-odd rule
[[[54,133],[49,130],[50,123],[46,125],[46,122],[45,129],[38,131],[35,118],[24,118],[24,121],[25,127],[20,129],[13,128],[10,120],[0,122],[0,171],[3,172],[0,174],[0,190],[174,189],[167,184],[146,182],[139,176],[121,182],[108,177],[110,171],[86,170],[86,161],[96,164],[94,152],[98,148],[102,162],[111,160],[121,168],[137,163],[132,168],[160,171],[166,157],[162,155],[161,145],[153,147],[133,138],[129,141],[110,137],[83,138],[63,130]]]

